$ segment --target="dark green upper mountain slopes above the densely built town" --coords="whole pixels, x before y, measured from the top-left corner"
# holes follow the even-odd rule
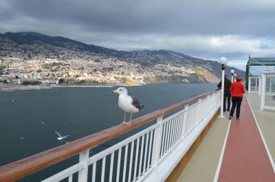
[[[5,32],[4,34],[0,34],[0,38],[0,56],[2,57],[14,56],[30,59],[40,56],[41,58],[61,58],[63,57],[63,54],[61,53],[67,51],[79,54],[81,58],[86,57],[86,60],[89,60],[89,57],[97,57],[100,59],[115,58],[131,64],[139,64],[146,68],[158,67],[158,65],[168,65],[170,67],[175,67],[175,69],[184,67],[186,69],[195,70],[195,74],[190,73],[190,76],[194,78],[197,77],[196,79],[198,82],[208,82],[207,80],[209,80],[208,78],[203,78],[203,71],[205,73],[208,72],[209,74],[212,73],[216,77],[216,79],[214,79],[216,81],[218,80],[217,78],[221,77],[221,65],[219,62],[194,58],[183,53],[166,49],[141,49],[129,52],[119,51],[94,44],[81,43],[80,41],[74,41],[63,36],[47,36],[37,32]],[[6,43],[5,41],[8,42],[8,46],[4,46]],[[7,49],[7,47],[10,47],[10,50]],[[73,53],[71,54],[71,57]],[[70,57],[67,56],[67,58]],[[198,69],[195,69],[195,67],[201,67],[203,71],[198,71],[198,73],[196,73]],[[234,67],[226,67],[226,74],[230,75],[230,69],[234,69],[237,73],[245,76],[244,71]],[[166,70],[162,70],[162,72],[165,71]],[[155,72],[157,73],[159,71]],[[185,77],[181,76],[177,71],[174,72],[177,74],[171,73],[170,75],[175,75],[180,78]],[[213,78],[213,76],[210,77]],[[187,80],[192,79],[187,78]]]

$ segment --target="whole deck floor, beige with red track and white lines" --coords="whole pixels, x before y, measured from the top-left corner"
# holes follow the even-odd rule
[[[212,124],[177,182],[275,181],[274,111],[261,111],[260,96],[248,93],[241,120],[228,114]]]

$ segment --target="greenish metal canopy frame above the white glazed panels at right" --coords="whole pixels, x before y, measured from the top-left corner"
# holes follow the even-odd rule
[[[250,66],[275,66],[275,58],[259,58],[259,57],[248,57],[248,63],[246,64],[246,75],[245,75],[245,89],[248,90],[249,77],[250,77]]]

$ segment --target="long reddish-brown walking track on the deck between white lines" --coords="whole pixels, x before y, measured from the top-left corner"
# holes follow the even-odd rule
[[[241,120],[232,118],[219,182],[274,182],[275,174],[256,126],[247,98],[241,104]]]

